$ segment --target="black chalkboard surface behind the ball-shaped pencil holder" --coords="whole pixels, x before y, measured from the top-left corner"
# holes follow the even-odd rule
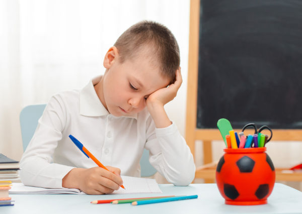
[[[200,1],[196,127],[302,128],[302,1]]]

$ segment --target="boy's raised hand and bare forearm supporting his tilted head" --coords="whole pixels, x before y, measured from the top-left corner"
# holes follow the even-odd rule
[[[181,86],[182,76],[180,69],[179,67],[176,70],[174,83],[153,92],[146,100],[147,109],[157,128],[165,128],[172,124],[165,112],[164,105],[174,99]]]

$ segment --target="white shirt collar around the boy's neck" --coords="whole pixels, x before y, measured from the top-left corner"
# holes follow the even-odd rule
[[[110,113],[106,110],[105,106],[101,102],[98,94],[94,88],[102,76],[97,76],[89,81],[89,83],[80,91],[80,114],[88,117],[98,117],[109,115]],[[137,119],[137,113],[123,116],[126,118]]]

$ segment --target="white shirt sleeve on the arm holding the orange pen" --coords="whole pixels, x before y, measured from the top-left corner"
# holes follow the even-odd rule
[[[61,97],[53,96],[20,161],[20,177],[25,185],[61,188],[62,178],[73,168],[53,163],[53,153],[66,122],[65,111]]]

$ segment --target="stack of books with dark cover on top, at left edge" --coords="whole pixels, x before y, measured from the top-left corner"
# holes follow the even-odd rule
[[[19,162],[0,153],[0,181],[20,182]]]

